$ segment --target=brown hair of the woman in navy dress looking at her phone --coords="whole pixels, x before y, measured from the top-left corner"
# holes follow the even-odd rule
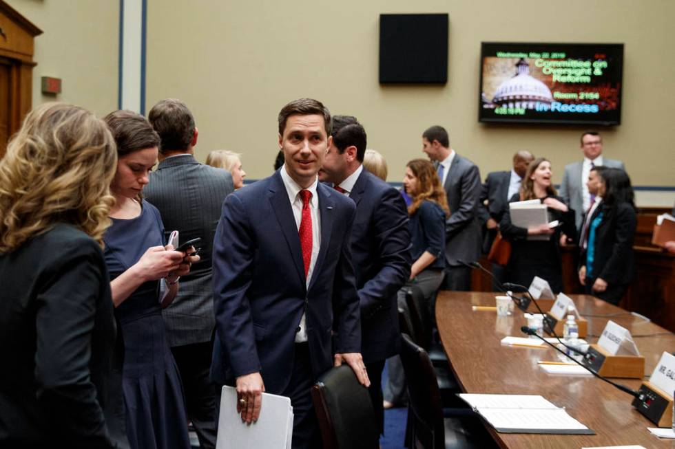
[[[117,144],[117,155],[159,146],[159,135],[145,117],[134,111],[113,111],[103,119]]]

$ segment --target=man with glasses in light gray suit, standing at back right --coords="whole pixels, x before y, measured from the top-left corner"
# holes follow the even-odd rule
[[[583,215],[594,199],[594,195],[588,193],[588,186],[586,186],[591,168],[605,166],[625,170],[623,162],[603,157],[603,139],[598,131],[584,131],[581,134],[581,151],[583,161],[572,162],[565,166],[565,174],[559,191],[565,203],[570,206],[570,209],[574,209],[577,230],[581,229]]]

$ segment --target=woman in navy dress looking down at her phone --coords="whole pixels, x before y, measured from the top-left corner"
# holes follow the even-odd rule
[[[199,258],[165,248],[159,212],[141,199],[157,160],[157,133],[131,111],[110,113],[105,122],[118,152],[110,186],[116,204],[104,241],[125,346],[127,436],[132,448],[189,449],[183,386],[167,344],[162,307],[176,296],[178,277]]]

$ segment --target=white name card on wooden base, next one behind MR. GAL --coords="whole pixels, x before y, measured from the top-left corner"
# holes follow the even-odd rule
[[[630,336],[630,331],[612,320],[596,344],[591,344],[583,364],[605,377],[642,379],[645,375],[645,358]]]

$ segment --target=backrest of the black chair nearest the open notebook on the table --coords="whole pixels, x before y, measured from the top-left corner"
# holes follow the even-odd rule
[[[445,448],[445,430],[441,393],[429,355],[402,334],[401,362],[406,373],[410,416],[413,421],[412,447]]]

